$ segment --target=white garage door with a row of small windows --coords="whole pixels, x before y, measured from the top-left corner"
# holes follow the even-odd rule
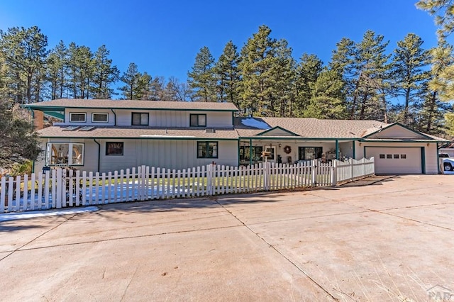
[[[375,174],[421,174],[421,147],[366,147],[375,158]]]

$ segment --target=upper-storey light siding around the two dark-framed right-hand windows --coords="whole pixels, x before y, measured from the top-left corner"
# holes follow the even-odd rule
[[[133,112],[150,113],[150,127],[189,127],[190,114],[206,114],[206,127],[231,128],[232,113],[213,111],[148,111],[148,110],[122,110],[117,111],[116,124],[118,126],[130,126]]]

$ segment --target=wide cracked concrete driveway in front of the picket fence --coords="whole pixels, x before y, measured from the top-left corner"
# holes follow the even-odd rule
[[[453,180],[374,178],[4,221],[0,300],[454,300]]]

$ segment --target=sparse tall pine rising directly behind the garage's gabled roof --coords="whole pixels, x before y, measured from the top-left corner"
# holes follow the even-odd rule
[[[404,97],[404,112],[402,123],[407,125],[414,121],[411,118],[410,106],[424,98],[424,86],[428,81],[429,73],[426,66],[430,55],[422,48],[423,40],[414,33],[409,33],[404,40],[397,42],[392,60],[392,79],[399,96]]]

